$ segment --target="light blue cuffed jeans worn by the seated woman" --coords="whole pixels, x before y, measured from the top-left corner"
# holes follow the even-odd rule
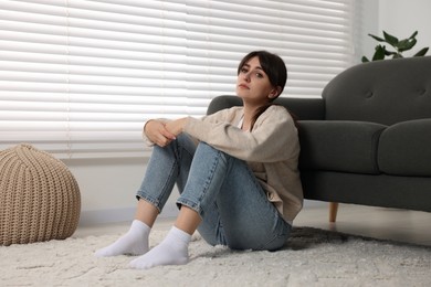
[[[204,142],[196,147],[181,134],[164,148],[154,147],[137,198],[161,211],[175,183],[178,206],[199,213],[198,231],[209,244],[257,251],[285,244],[291,225],[269,202],[245,161]]]

